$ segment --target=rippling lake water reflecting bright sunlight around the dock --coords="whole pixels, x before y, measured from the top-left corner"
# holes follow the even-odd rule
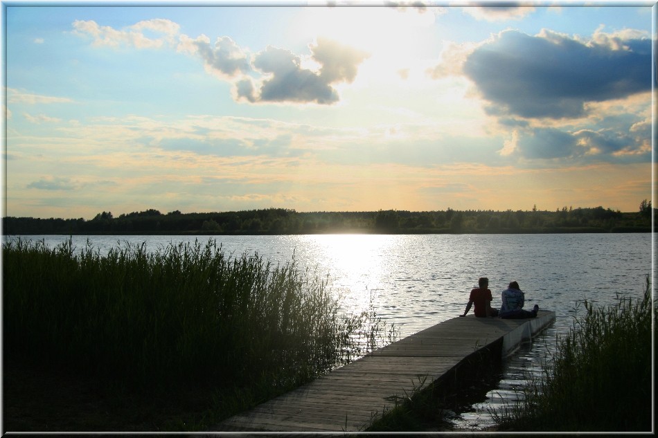
[[[3,236],[3,241],[16,237]],[[26,239],[26,237],[23,237]],[[29,236],[53,247],[67,236]],[[400,336],[463,313],[479,277],[489,277],[494,296],[517,280],[527,308],[555,311],[556,319],[541,336],[526,343],[504,363],[501,380],[481,403],[461,412],[454,424],[467,430],[493,425],[487,410],[515,396],[526,372],[539,369],[555,336],[571,328],[585,311],[583,300],[598,306],[619,296],[641,298],[652,273],[649,234],[574,235],[296,235],[296,236],[73,236],[81,249],[87,239],[100,253],[113,246],[145,243],[159,250],[181,241],[205,244],[215,239],[226,253],[258,253],[285,264],[294,257],[301,268],[321,277],[341,298],[344,311],[373,307],[383,320],[400,328]]]

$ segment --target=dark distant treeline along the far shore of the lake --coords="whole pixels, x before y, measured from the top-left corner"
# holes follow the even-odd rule
[[[158,210],[94,219],[3,217],[3,235],[288,235],[324,233],[459,234],[546,232],[651,232],[651,201],[637,212],[610,208],[555,211],[452,210],[410,212],[296,212],[283,208],[163,214]]]

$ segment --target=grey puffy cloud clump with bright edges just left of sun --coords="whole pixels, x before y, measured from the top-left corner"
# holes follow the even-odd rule
[[[301,58],[283,48],[268,46],[254,58],[254,67],[271,75],[258,91],[254,80],[244,78],[235,84],[238,98],[249,102],[317,102],[339,100],[332,84],[353,82],[366,54],[349,46],[320,39],[311,47],[312,57],[321,64],[319,72],[303,69]]]

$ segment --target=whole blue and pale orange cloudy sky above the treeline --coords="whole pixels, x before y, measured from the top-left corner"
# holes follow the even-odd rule
[[[3,216],[652,199],[651,2],[181,4],[3,3]]]

